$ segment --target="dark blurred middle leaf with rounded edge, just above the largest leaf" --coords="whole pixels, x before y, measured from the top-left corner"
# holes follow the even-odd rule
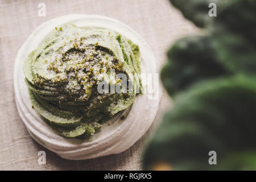
[[[178,40],[168,51],[161,79],[171,96],[195,82],[231,74],[218,61],[212,42],[208,36],[191,36]]]

